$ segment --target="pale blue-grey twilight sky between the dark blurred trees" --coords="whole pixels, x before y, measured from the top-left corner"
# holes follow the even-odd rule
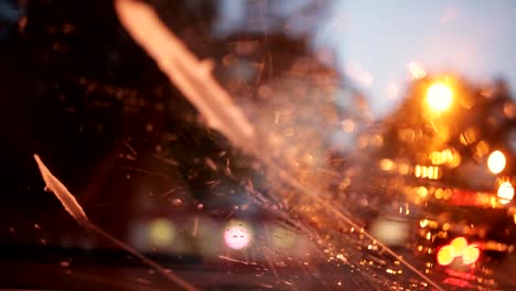
[[[250,2],[256,1],[223,0],[221,28],[238,26],[246,18],[243,3]],[[270,2],[271,14],[288,18],[311,1]],[[472,80],[502,76],[516,93],[516,1],[333,0],[330,6],[329,15],[311,28],[313,45],[334,51],[335,67],[368,96],[376,116],[400,101],[409,62]]]

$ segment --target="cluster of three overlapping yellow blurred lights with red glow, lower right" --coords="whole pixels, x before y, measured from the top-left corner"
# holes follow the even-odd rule
[[[452,263],[455,258],[462,258],[465,265],[474,263],[480,258],[480,249],[475,245],[469,245],[464,237],[458,237],[437,254],[438,263],[441,266]]]

